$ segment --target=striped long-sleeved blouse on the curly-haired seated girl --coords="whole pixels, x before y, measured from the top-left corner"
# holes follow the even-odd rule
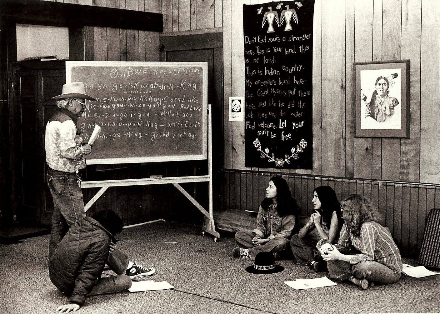
[[[359,236],[356,236],[347,230],[347,224],[345,223],[336,247],[338,249],[342,248],[341,251],[346,251],[350,245],[362,252],[361,254],[352,255],[351,264],[361,261],[376,261],[387,267],[393,266],[399,272],[402,271],[399,248],[397,248],[389,230],[380,224],[367,221],[362,224]]]

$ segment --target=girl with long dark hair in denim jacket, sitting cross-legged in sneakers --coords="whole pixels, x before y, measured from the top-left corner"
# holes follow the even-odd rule
[[[273,177],[266,189],[257,215],[257,228],[251,232],[237,231],[235,241],[243,248],[234,248],[233,257],[254,260],[259,252],[277,252],[288,247],[292,232],[301,213],[289,186],[281,177]]]

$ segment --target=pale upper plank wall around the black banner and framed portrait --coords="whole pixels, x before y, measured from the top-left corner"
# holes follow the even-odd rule
[[[244,94],[242,5],[265,2],[223,1],[225,110]],[[436,0],[315,0],[312,170],[246,168],[244,123],[228,121],[224,167],[440,184],[439,11]],[[411,60],[410,138],[355,138],[353,62],[398,59]]]

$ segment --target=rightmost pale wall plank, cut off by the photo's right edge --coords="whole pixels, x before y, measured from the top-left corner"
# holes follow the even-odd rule
[[[436,184],[440,183],[439,11],[438,1],[422,1],[420,181]]]

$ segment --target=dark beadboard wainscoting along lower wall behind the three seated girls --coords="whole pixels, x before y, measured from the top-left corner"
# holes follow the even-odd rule
[[[334,188],[339,200],[349,194],[363,194],[378,207],[380,223],[387,226],[403,256],[418,257],[425,219],[432,208],[440,206],[440,186],[391,181],[346,179],[279,172],[224,170],[224,210],[258,210],[272,176],[282,175],[302,215],[312,213],[312,195],[317,186]]]

